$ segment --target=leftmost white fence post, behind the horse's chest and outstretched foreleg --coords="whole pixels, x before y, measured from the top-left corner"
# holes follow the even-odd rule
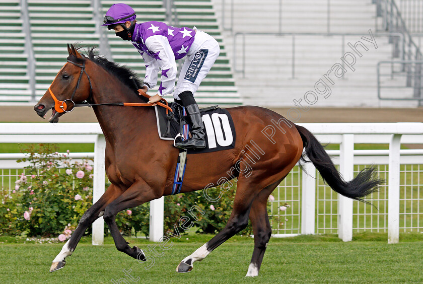
[[[104,135],[97,135],[94,144],[94,181],[93,181],[93,204],[100,199],[104,193],[106,183],[106,171],[104,167],[104,153],[106,150],[106,139]],[[104,241],[104,221],[103,216],[93,223],[93,245],[103,245]]]

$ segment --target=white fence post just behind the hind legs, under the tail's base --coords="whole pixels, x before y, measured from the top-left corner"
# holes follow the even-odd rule
[[[312,163],[304,163],[303,168],[301,234],[310,235],[315,233],[316,168]]]

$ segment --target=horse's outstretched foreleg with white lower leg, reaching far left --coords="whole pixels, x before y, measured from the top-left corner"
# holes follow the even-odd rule
[[[116,190],[113,185],[110,185],[106,192],[104,192],[104,194],[100,197],[100,199],[87,211],[85,211],[74,233],[64,244],[60,253],[54,258],[50,267],[50,272],[63,268],[64,264],[66,263],[64,259],[74,252],[78,242],[81,240],[87,228],[103,215],[106,205],[115,199],[119,194],[120,191]]]

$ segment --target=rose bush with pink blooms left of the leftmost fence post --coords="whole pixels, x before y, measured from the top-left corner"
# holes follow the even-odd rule
[[[0,232],[7,235],[57,237],[67,224],[78,225],[85,210],[93,203],[90,161],[74,162],[67,154],[59,155],[53,144],[29,145],[21,149],[29,162],[16,181],[15,190],[9,195],[2,192],[0,204]],[[84,172],[77,178],[77,172]],[[81,176],[81,174],[80,174]],[[80,196],[76,200],[76,196]],[[4,208],[12,207],[4,215]]]

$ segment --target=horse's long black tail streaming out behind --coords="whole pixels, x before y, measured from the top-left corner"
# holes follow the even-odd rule
[[[336,170],[329,155],[316,137],[306,128],[299,125],[296,125],[296,127],[303,139],[303,146],[306,150],[305,153],[310,159],[310,161],[307,161],[304,156],[302,156],[301,160],[304,162],[312,162],[323,180],[337,193],[369,203],[364,200],[363,197],[376,191],[378,186],[384,182],[376,177],[376,167],[365,168],[353,180],[346,182]]]

